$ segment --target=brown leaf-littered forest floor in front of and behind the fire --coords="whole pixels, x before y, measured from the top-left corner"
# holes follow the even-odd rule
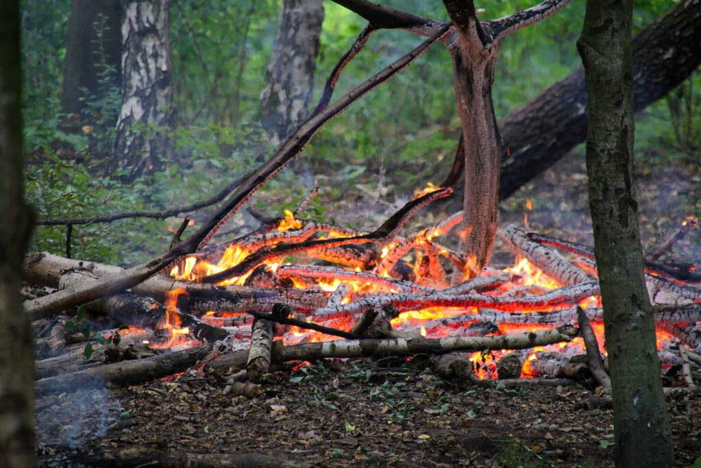
[[[646,246],[701,212],[701,174],[655,167],[639,168]],[[592,245],[586,193],[581,158],[568,158],[503,204],[502,225],[522,224],[530,199],[531,230]],[[675,247],[679,260],[701,259],[698,231]],[[495,259],[510,261],[503,249]],[[254,399],[187,377],[45,397],[36,401],[41,466],[75,467],[77,455],[100,460],[135,447],[260,453],[318,467],[613,466],[611,408],[593,389],[455,383],[424,364],[326,361],[270,376]],[[678,373],[669,371],[665,385],[681,387]],[[676,465],[689,467],[701,456],[701,391],[677,389],[667,401]]]

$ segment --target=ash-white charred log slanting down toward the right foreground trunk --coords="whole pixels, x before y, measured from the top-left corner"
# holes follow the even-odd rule
[[[560,284],[580,284],[592,280],[590,275],[566,261],[558,252],[529,240],[528,235],[513,224],[499,230],[498,234],[515,252],[525,256]]]

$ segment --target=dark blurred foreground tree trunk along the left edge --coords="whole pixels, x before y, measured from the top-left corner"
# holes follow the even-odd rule
[[[32,467],[34,349],[22,311],[22,257],[31,237],[32,209],[22,193],[22,74],[19,1],[0,3],[0,466]]]

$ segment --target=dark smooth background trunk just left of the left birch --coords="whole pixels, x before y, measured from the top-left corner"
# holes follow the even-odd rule
[[[67,128],[90,125],[87,101],[121,89],[122,8],[120,0],[72,0],[61,96]],[[114,120],[107,125],[114,125]]]

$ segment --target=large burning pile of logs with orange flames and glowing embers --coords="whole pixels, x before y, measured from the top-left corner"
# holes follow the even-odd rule
[[[462,213],[398,235],[409,216],[449,193],[430,186],[372,233],[304,219],[306,202],[280,219],[259,216],[253,232],[185,256],[130,293],[92,303],[107,323],[130,328],[101,331],[112,343],[95,345],[88,362],[64,354],[65,322],[46,324],[40,336],[53,357],[37,364],[39,390],[60,390],[81,373],[81,382],[95,376],[125,382],[125,371],[109,373],[104,369],[116,364],[97,365],[98,359],[123,361],[128,382],[196,363],[199,372],[233,369],[227,390],[254,394],[254,383],[289,369],[286,362],[424,354],[435,356],[437,372],[468,380],[591,382],[587,348],[599,362],[606,355],[592,248],[506,226],[498,235],[517,255],[516,265],[475,272],[450,247],[460,240]],[[659,259],[696,223],[687,219],[648,258]],[[29,280],[49,287],[120,270],[51,254],[35,255],[26,267]],[[698,362],[701,275],[693,266],[651,260],[646,280],[663,368]],[[588,342],[584,329],[593,331]],[[62,371],[71,372],[55,376]],[[252,383],[236,381],[245,379]]]

